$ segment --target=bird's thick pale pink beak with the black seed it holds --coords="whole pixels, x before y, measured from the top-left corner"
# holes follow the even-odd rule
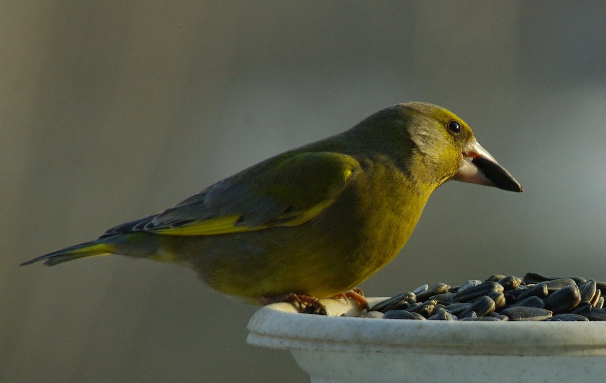
[[[487,152],[475,139],[461,153],[463,161],[459,172],[453,179],[471,184],[498,187],[503,190],[524,191],[524,188],[513,178],[496,159]]]

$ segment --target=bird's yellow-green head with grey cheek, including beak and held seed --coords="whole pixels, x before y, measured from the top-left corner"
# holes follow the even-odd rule
[[[418,181],[449,179],[522,191],[521,185],[478,143],[465,122],[445,108],[423,102],[395,105],[406,116],[412,145],[410,173]]]

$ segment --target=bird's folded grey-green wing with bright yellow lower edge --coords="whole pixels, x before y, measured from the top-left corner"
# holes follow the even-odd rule
[[[219,181],[158,215],[127,222],[104,236],[133,231],[215,235],[295,226],[336,201],[360,167],[332,152],[288,154]]]

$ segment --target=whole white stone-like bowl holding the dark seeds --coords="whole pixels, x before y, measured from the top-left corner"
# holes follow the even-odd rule
[[[351,318],[355,302],[322,303],[329,316],[261,308],[247,342],[290,350],[312,382],[606,382],[606,322]]]

